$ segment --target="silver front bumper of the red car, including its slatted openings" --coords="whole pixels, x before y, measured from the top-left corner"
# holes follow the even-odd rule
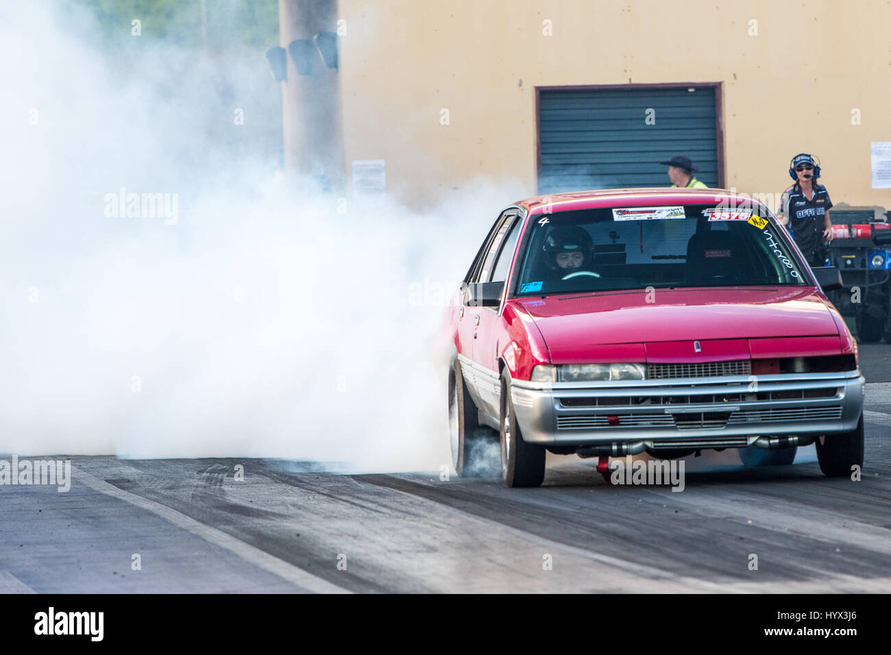
[[[745,447],[758,436],[854,430],[859,371],[609,382],[511,381],[523,439],[547,446],[644,441]]]

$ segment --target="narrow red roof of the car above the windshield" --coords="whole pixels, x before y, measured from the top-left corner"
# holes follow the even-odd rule
[[[623,207],[625,205],[698,205],[711,202],[729,202],[738,198],[740,202],[758,202],[744,193],[727,189],[687,189],[652,187],[644,189],[599,189],[595,191],[574,191],[539,195],[516,204],[525,207],[530,214],[544,213],[548,207],[553,211],[571,209],[597,209],[601,207]],[[732,203],[731,203],[732,204]],[[758,202],[760,204],[760,202]]]

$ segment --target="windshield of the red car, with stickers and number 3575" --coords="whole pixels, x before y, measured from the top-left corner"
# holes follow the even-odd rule
[[[516,292],[810,284],[766,215],[713,203],[533,217]]]

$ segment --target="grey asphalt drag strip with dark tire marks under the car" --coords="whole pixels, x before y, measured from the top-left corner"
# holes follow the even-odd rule
[[[887,592],[891,384],[867,403],[860,481],[824,478],[813,446],[688,458],[680,493],[609,487],[575,455],[538,489],[72,457],[68,493],[0,487],[0,592]]]

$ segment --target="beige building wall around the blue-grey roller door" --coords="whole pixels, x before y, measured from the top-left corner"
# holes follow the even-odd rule
[[[726,186],[779,194],[809,151],[833,201],[891,209],[870,160],[891,141],[891,3],[339,0],[339,15],[347,168],[387,160],[413,206],[478,178],[534,194],[535,86],[720,81]]]

